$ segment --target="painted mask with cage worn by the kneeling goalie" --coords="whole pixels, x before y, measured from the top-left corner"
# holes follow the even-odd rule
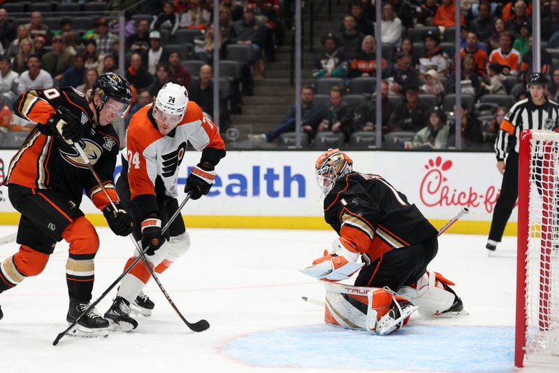
[[[322,190],[321,197],[328,195],[338,178],[353,171],[353,164],[354,161],[340,149],[330,148],[319,156],[314,164],[314,176]]]

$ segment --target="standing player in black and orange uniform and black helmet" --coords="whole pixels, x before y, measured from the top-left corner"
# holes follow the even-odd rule
[[[69,244],[67,321],[75,321],[87,309],[99,237],[80,210],[80,202],[86,192],[115,234],[132,232],[131,217],[119,208],[113,185],[119,141],[110,124],[124,116],[130,101],[130,85],[116,73],[100,76],[87,95],[73,87],[58,87],[24,92],[16,99],[14,112],[37,125],[12,158],[4,181],[10,202],[22,215],[17,229],[20,250],[0,263],[0,293],[40,274],[57,241],[64,239]],[[117,211],[75,146],[87,155]],[[107,335],[108,325],[92,309],[71,332]]]

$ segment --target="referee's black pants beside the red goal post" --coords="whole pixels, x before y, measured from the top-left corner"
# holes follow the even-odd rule
[[[502,176],[501,192],[495,203],[489,239],[500,242],[516,199],[518,198],[518,153],[511,151]]]

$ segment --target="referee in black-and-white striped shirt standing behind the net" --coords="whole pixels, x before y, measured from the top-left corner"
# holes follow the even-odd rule
[[[518,145],[523,129],[559,129],[559,105],[546,97],[547,78],[542,73],[528,77],[528,98],[514,104],[504,115],[497,139],[497,169],[503,175],[501,192],[493,211],[486,248],[495,251],[518,197]],[[505,163],[506,160],[506,163]]]

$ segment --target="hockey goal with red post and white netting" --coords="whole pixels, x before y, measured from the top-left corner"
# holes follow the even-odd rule
[[[514,365],[559,364],[559,134],[523,131]]]

